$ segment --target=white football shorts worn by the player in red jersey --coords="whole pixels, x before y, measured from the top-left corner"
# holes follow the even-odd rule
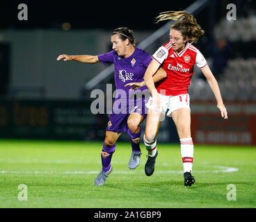
[[[164,96],[159,94],[161,100],[160,112],[163,116],[171,117],[172,112],[178,110],[180,108],[187,108],[190,110],[189,107],[189,94],[182,94],[177,96]],[[152,96],[148,100],[146,104],[148,109],[157,110],[157,104],[154,103]],[[167,112],[167,113],[166,113]]]

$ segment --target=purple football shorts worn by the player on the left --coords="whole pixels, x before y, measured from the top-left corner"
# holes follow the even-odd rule
[[[125,103],[122,99],[115,99],[113,104],[113,113],[111,114],[106,127],[106,131],[112,131],[115,133],[127,132],[128,123],[127,120],[131,113],[137,112],[143,116],[143,119],[147,117],[147,103],[148,97],[143,99],[136,99],[131,102]],[[128,104],[128,105],[127,105]]]

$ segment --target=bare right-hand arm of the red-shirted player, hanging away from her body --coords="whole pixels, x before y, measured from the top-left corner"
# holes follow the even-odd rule
[[[218,87],[216,78],[212,74],[211,69],[209,68],[208,65],[203,67],[201,70],[202,70],[202,73],[205,75],[205,78],[207,79],[207,82],[209,83],[212,92],[214,92],[214,96],[217,101],[217,107],[221,111],[221,117],[223,117],[224,119],[227,119],[227,109],[225,108],[225,105],[223,103],[223,100],[221,97],[221,91],[220,91],[220,88]]]

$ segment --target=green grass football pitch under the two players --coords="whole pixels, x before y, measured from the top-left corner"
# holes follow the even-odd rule
[[[179,144],[158,144],[154,174],[128,169],[131,147],[117,143],[113,171],[95,186],[101,170],[102,142],[0,141],[0,207],[252,207],[256,206],[256,147],[195,144],[195,185],[184,187]],[[27,187],[27,200],[19,200]],[[236,200],[227,200],[228,185]],[[234,189],[232,190],[234,191]],[[232,196],[234,198],[234,196]]]

